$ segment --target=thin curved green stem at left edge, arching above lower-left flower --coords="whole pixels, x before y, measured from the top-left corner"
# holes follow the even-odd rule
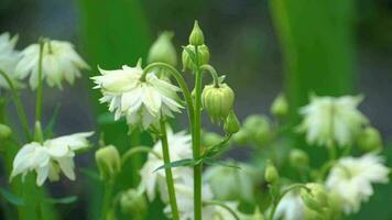
[[[26,117],[26,113],[24,111],[22,101],[20,99],[19,91],[15,88],[15,86],[13,85],[11,78],[8,76],[8,74],[6,74],[6,72],[0,70],[0,75],[6,79],[6,81],[8,82],[9,87],[11,89],[13,102],[15,103],[15,107],[17,107],[18,118],[21,121],[25,140],[26,141],[31,141],[28,117]]]

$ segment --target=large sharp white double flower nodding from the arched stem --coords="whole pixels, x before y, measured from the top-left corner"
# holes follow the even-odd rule
[[[102,91],[100,102],[109,103],[116,120],[126,116],[129,124],[148,129],[161,114],[173,117],[172,111],[181,112],[183,108],[177,102],[178,87],[157,78],[154,73],[142,79],[141,61],[135,67],[124,65],[122,69],[99,72],[101,76],[91,79],[97,84],[95,88]]]

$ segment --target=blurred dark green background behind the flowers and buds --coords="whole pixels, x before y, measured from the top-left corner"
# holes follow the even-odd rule
[[[91,91],[88,76],[97,74],[98,64],[109,69],[134,65],[140,56],[146,56],[149,46],[164,30],[175,32],[179,54],[195,19],[205,32],[210,63],[228,76],[228,84],[236,90],[240,118],[268,112],[282,90],[292,107],[306,103],[311,91],[363,94],[360,109],[380,129],[385,143],[391,140],[392,0],[0,1],[0,33],[18,33],[18,48],[42,35],[66,40],[76,44],[92,67],[75,87],[46,90],[44,121],[61,103],[57,134],[99,127],[110,131],[108,142],[122,147],[130,141],[117,131],[127,128],[121,123],[97,123],[96,117],[106,107],[98,103],[99,95]],[[34,99],[29,92],[23,96],[32,108]],[[293,122],[297,120],[295,112],[292,108]],[[79,163],[88,166],[91,158],[85,156]],[[80,197],[70,208],[59,207],[65,219],[96,219],[97,199],[89,199],[89,195],[98,198],[99,194],[94,194],[95,189],[86,191],[87,182],[65,180],[53,186],[54,195]],[[392,189],[382,186],[353,219],[392,219],[392,210],[388,209],[391,204]]]

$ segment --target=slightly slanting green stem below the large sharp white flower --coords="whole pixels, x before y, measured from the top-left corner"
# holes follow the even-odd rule
[[[164,119],[161,118],[161,143],[162,143],[162,154],[163,161],[165,164],[171,163],[170,152],[168,152],[168,143],[167,143],[167,133],[166,133],[166,123]],[[178,220],[178,208],[177,208],[177,200],[175,197],[174,190],[174,183],[173,183],[173,174],[172,168],[165,168],[165,176],[166,176],[166,185],[167,185],[167,193],[168,193],[168,200],[172,208],[173,220]]]

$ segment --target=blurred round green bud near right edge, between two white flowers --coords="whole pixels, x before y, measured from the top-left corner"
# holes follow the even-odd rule
[[[380,132],[372,128],[367,127],[358,135],[357,140],[358,146],[364,152],[372,152],[382,148],[382,139]]]

